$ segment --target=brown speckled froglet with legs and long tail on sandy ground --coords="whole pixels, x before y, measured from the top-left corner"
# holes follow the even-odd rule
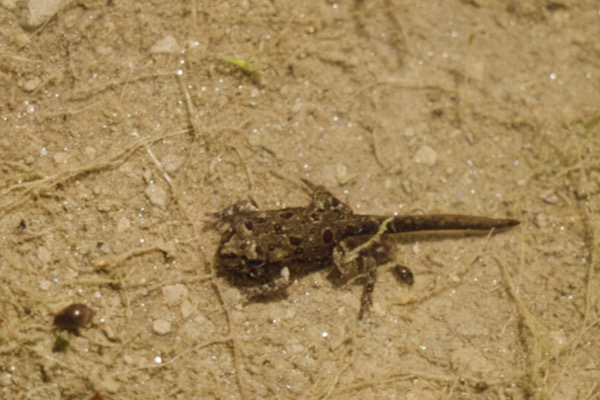
[[[465,215],[407,215],[394,218],[358,215],[321,186],[305,183],[313,190],[307,207],[258,211],[254,203],[238,204],[223,213],[227,228],[217,253],[220,272],[251,295],[281,292],[293,278],[335,264],[347,271],[370,272],[368,285],[374,285],[372,271],[381,260],[375,254],[379,234],[426,230],[490,230],[518,224],[512,219],[493,219]],[[382,228],[383,227],[383,228]],[[354,237],[376,237],[368,248],[348,259],[345,242]],[[337,254],[337,257],[336,257]],[[342,254],[340,256],[340,254]],[[369,260],[365,260],[369,258]],[[345,264],[352,263],[352,268]],[[406,269],[406,267],[403,267]],[[409,274],[410,271],[406,269]],[[412,280],[409,280],[412,283]],[[365,287],[366,292],[372,287]],[[365,297],[365,296],[363,296]],[[370,297],[370,296],[369,296]],[[370,302],[370,298],[365,301]],[[363,301],[364,303],[364,301]],[[362,316],[362,310],[361,310]]]

